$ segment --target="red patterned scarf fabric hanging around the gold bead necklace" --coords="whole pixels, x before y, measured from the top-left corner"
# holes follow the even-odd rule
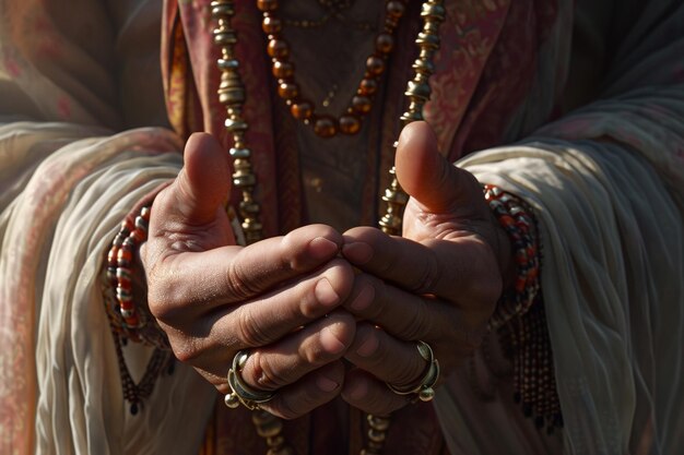
[[[226,143],[227,136],[223,127],[225,113],[215,95],[220,82],[215,68],[219,55],[211,40],[209,3],[209,0],[165,3],[166,29],[162,52],[167,108],[173,124],[181,136],[197,131],[188,125],[203,124],[207,131]],[[512,5],[506,0],[450,0],[446,2],[446,7],[448,21],[440,32],[444,45],[436,58],[437,73],[431,80],[434,96],[433,101],[426,106],[425,116],[435,128],[441,148],[453,160],[475,147],[491,146],[509,136],[529,132],[539,124],[529,124],[530,121],[540,122],[550,117],[558,92],[554,84],[545,85],[545,91],[551,96],[541,103],[536,99],[538,103],[533,104],[526,97],[536,89],[536,71],[551,71],[554,76],[562,74],[562,64],[566,63],[563,58],[567,56],[570,11],[564,7],[564,16],[557,17],[558,7],[555,1],[527,0],[517,1]],[[387,81],[385,105],[376,106],[375,109],[376,112],[385,112],[381,118],[375,116],[376,122],[382,124],[380,136],[375,142],[380,144],[382,156],[379,163],[368,163],[374,168],[367,175],[379,173],[380,180],[373,177],[369,179],[367,196],[364,197],[365,207],[362,208],[365,213],[376,206],[375,195],[378,188],[385,188],[388,183],[386,172],[379,172],[376,167],[389,169],[393,156],[392,144],[399,133],[398,118],[402,109],[397,100],[401,99],[405,83],[411,76],[411,64],[417,49],[414,37],[421,26],[416,14],[420,2],[412,2],[410,8],[414,13],[406,14],[408,20],[398,29],[400,43],[394,53],[398,57],[390,62],[391,79]],[[520,23],[532,23],[534,26],[520,27]],[[282,121],[282,117],[278,118],[278,122],[274,121],[271,113],[273,109],[278,110],[279,107],[273,104],[280,100],[271,100],[269,62],[263,52],[266,41],[260,29],[260,13],[252,2],[237,2],[233,26],[238,34],[237,52],[248,94],[245,117],[250,125],[248,141],[253,144],[253,166],[259,179],[258,197],[263,206],[269,207],[263,213],[263,223],[266,232],[273,235],[284,230],[278,226],[273,207],[278,206],[279,212],[286,213],[288,207],[299,206],[297,201],[300,199],[296,193],[297,187],[292,185],[287,192],[280,193],[280,197],[273,194],[281,173],[291,169],[288,166],[273,166],[274,139],[281,134],[283,124],[287,123]],[[540,65],[538,69],[536,61],[547,59],[549,55],[557,56],[554,57],[556,62],[552,61],[552,64]],[[518,64],[520,62],[523,64]],[[547,80],[554,77],[544,76],[544,81]],[[556,84],[561,85],[562,82],[563,77],[559,77]],[[514,128],[515,131],[508,131],[511,129],[508,124],[510,117],[518,113],[523,101],[532,105],[530,110],[541,111],[527,123],[519,122]],[[486,121],[480,121],[482,118]],[[284,153],[287,155],[279,159],[292,161],[293,158],[288,156],[296,151],[279,147],[278,155]],[[375,154],[375,151],[369,151],[368,156],[373,157]],[[364,218],[373,221],[376,216],[377,214]]]

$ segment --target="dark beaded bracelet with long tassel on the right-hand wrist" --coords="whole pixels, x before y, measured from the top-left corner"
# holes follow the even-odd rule
[[[517,276],[502,295],[490,321],[512,363],[514,400],[526,417],[549,433],[563,427],[553,370],[553,351],[540,292],[541,243],[532,209],[519,197],[484,185],[484,197],[506,230],[514,249]]]

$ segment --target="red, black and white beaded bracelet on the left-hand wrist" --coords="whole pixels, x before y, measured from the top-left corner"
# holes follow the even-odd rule
[[[106,286],[103,289],[105,309],[119,364],[123,398],[130,404],[130,412],[138,414],[143,400],[154,390],[162,373],[173,372],[174,358],[168,339],[156,321],[133,300],[133,264],[135,249],[148,238],[151,204],[143,205],[135,216],[128,216],[114,237],[106,259]],[[128,340],[154,347],[140,382],[135,383],[126,364],[122,347]]]

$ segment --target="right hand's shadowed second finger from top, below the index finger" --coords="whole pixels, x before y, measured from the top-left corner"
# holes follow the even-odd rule
[[[344,308],[402,340],[451,339],[450,349],[462,356],[480,345],[485,332],[486,315],[473,316],[459,306],[406,292],[364,273],[354,278]]]

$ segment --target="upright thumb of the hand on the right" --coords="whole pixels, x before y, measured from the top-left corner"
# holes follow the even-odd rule
[[[470,205],[472,197],[482,199],[477,180],[439,154],[437,137],[424,121],[409,123],[401,131],[396,171],[401,188],[426,212],[453,212]]]

